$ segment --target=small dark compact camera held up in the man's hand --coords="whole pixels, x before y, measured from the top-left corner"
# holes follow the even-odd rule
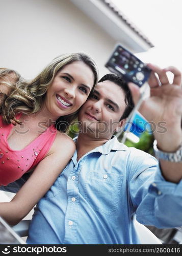
[[[118,44],[105,65],[111,72],[116,73],[126,81],[141,87],[148,80],[151,70],[133,53]]]

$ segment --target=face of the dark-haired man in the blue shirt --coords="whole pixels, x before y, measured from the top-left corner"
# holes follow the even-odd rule
[[[114,82],[98,83],[79,112],[81,131],[98,139],[109,139],[124,123],[119,121],[126,107],[124,98],[123,90]]]

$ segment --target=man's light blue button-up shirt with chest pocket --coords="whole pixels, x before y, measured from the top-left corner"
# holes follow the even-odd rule
[[[164,180],[157,160],[113,137],[76,162],[76,152],[39,201],[30,244],[138,244],[133,217],[182,225],[182,182]]]

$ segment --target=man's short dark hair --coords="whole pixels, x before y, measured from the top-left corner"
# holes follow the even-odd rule
[[[134,108],[132,94],[129,91],[127,83],[120,76],[118,76],[116,74],[106,74],[98,82],[103,82],[103,81],[111,81],[111,82],[116,83],[125,93],[124,102],[126,103],[126,108],[119,120],[119,121],[121,121],[122,119],[128,117],[128,115],[132,112],[132,110]]]

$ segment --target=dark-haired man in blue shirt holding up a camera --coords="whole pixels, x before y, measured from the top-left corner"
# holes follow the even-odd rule
[[[28,243],[137,244],[134,214],[142,224],[182,226],[181,74],[172,67],[150,68],[162,85],[152,73],[151,96],[140,112],[148,121],[166,122],[166,133],[154,131],[160,164],[113,137],[132,104],[127,107],[130,97],[123,81],[105,76],[79,113],[77,151],[38,203]],[[174,74],[172,84],[167,71]],[[134,84],[129,88],[136,103],[139,89]]]

